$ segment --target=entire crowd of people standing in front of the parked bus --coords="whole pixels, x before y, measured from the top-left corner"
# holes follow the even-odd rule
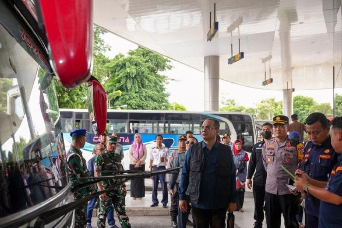
[[[229,134],[224,134],[222,139],[218,137],[219,122],[215,119],[209,118],[203,122],[201,142],[192,132],[187,132],[179,136],[178,149],[171,153],[162,143],[163,136],[157,135],[156,146],[149,151],[150,171],[171,167],[181,169],[178,173],[151,177],[151,207],[159,205],[157,191],[160,183],[162,206],[167,207],[168,193],[171,198],[172,227],[222,228],[227,211],[244,212],[247,185],[253,189],[256,228],[262,227],[264,217],[267,227],[280,227],[281,215],[285,227],[304,227],[303,213],[305,227],[341,226],[338,211],[342,205],[342,157],[338,155],[342,152],[342,117],[336,117],[330,123],[323,113],[315,112],[306,118],[305,124],[299,123],[296,115],[292,115],[291,119],[293,123],[289,124],[288,117],[275,116],[272,123],[264,123],[262,141],[254,145],[250,158],[242,149],[242,140],[231,142]],[[305,146],[303,132],[307,134]],[[115,174],[113,171],[123,170],[123,151],[117,142],[118,134],[108,136],[105,132],[94,147],[94,157],[88,161],[87,169],[80,152],[86,131],[75,130],[70,134],[73,144],[67,155],[69,178],[75,199],[79,199],[96,190],[91,186],[81,191],[74,189],[74,186],[84,182],[77,177],[105,176],[110,171]],[[131,171],[145,171],[147,149],[139,133],[134,136],[129,157]],[[144,178],[131,180],[133,200],[145,197],[144,182]],[[125,211],[127,191],[124,181],[103,180],[96,187],[97,191],[113,188],[113,191],[102,193],[99,197],[98,227],[105,227],[106,217],[110,227],[117,227],[114,209],[121,227],[131,227]],[[96,201],[97,198],[94,198],[88,206],[84,204],[76,209],[77,227],[86,224],[91,227]],[[193,222],[189,219],[190,210]]]

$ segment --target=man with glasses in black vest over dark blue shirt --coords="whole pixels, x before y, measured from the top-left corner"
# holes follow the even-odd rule
[[[203,141],[186,151],[179,188],[179,206],[186,213],[188,190],[197,228],[225,227],[227,210],[236,210],[236,175],[231,148],[216,140],[220,124],[206,119]]]

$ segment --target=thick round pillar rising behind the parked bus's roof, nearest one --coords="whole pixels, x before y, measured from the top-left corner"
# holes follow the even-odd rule
[[[204,57],[205,111],[219,111],[220,56]]]

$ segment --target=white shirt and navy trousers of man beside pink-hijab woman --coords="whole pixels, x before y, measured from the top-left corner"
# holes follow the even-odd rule
[[[150,159],[153,160],[153,171],[165,170],[166,161],[169,156],[169,148],[162,146],[157,148],[153,147],[150,152]],[[160,180],[161,190],[163,192],[163,199],[161,203],[166,205],[168,203],[168,188],[165,182],[165,174],[159,174],[153,177],[153,189],[152,189],[152,205],[158,204],[158,183]]]

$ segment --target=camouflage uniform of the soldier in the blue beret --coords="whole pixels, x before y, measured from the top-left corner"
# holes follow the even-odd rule
[[[82,151],[78,150],[73,145],[67,153],[67,164],[68,164],[68,175],[71,182],[71,191],[74,193],[74,200],[82,199],[83,197],[89,195],[89,192],[94,190],[94,185],[82,189],[75,189],[79,184],[88,182],[88,180],[80,180],[80,177],[91,177],[89,171],[87,170],[87,162],[82,157]],[[87,204],[84,203],[77,209],[75,209],[75,227],[86,227],[86,212]]]

